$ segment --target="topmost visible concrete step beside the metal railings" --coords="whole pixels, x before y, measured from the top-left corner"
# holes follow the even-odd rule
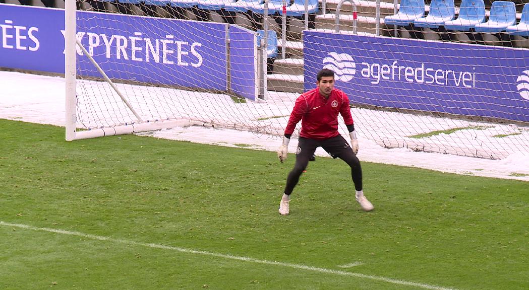
[[[336,13],[336,7],[340,0],[329,0],[326,2],[325,13]],[[359,16],[371,16],[375,17],[377,15],[377,2],[375,1],[356,1],[357,3],[357,12]],[[353,14],[353,5],[351,2],[343,3],[340,8],[340,14]],[[386,3],[380,2],[380,17],[387,15],[395,14],[393,2]]]

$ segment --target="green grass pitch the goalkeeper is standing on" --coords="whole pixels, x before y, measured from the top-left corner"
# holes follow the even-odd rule
[[[282,217],[294,155],[279,163],[274,152],[133,135],[68,143],[63,128],[7,120],[0,140],[0,221],[114,239],[4,224],[1,289],[528,285],[527,182],[363,162],[364,192],[376,207],[365,213],[348,166],[320,157]]]

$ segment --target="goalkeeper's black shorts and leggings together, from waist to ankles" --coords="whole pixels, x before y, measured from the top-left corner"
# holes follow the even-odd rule
[[[353,153],[349,143],[338,135],[333,138],[324,140],[315,140],[308,138],[299,138],[299,145],[296,155],[296,164],[294,169],[288,173],[287,184],[285,185],[285,194],[290,194],[299,181],[299,176],[307,168],[308,160],[314,154],[317,147],[322,147],[327,153],[331,154],[333,158],[340,158],[351,167],[351,178],[354,183],[355,190],[362,190],[362,167],[357,156]]]

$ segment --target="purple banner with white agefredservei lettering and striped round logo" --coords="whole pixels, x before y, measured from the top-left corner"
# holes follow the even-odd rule
[[[304,33],[305,90],[325,67],[353,103],[529,122],[529,50]]]

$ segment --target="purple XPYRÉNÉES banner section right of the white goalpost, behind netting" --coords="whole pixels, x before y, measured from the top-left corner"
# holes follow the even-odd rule
[[[77,27],[77,38],[110,78],[227,89],[226,24],[78,12]],[[99,76],[86,57],[78,71]]]

